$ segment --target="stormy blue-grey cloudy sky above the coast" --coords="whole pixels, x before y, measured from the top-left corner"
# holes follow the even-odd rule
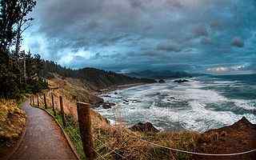
[[[42,0],[24,46],[62,66],[256,70],[255,0]]]

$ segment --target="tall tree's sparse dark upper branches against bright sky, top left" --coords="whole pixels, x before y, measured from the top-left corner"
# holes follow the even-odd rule
[[[0,50],[6,51],[10,46],[16,45],[19,48],[22,28],[27,22],[33,20],[28,14],[33,10],[36,2],[33,0],[2,0],[0,2]],[[16,50],[18,54],[18,50]]]

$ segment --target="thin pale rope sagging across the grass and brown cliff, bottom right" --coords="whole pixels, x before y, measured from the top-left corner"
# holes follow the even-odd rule
[[[136,137],[134,137],[136,138]],[[146,141],[144,139],[141,139],[141,138],[137,138],[138,140],[141,140],[143,142],[147,142],[151,145],[154,145],[154,146],[159,146],[159,147],[162,147],[162,148],[166,148],[168,150],[174,150],[174,151],[177,151],[177,152],[181,152],[181,153],[184,153],[184,154],[195,154],[195,155],[206,155],[206,156],[234,156],[234,155],[241,155],[241,154],[250,154],[254,151],[256,151],[256,149],[254,150],[248,150],[248,151],[245,151],[245,152],[239,152],[239,153],[234,153],[234,154],[203,154],[203,153],[197,153],[197,152],[190,152],[190,151],[186,151],[186,150],[178,150],[178,149],[175,149],[175,148],[170,148],[168,146],[162,146],[162,145],[158,145],[158,144],[155,144],[154,142],[149,142],[149,141]]]

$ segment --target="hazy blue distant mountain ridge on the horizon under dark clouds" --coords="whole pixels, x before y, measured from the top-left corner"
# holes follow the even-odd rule
[[[170,70],[161,70],[161,71],[153,71],[153,70],[143,70],[140,72],[132,72],[130,74],[126,74],[130,77],[134,78],[186,78],[193,77],[194,74],[189,74],[185,71],[170,71]]]

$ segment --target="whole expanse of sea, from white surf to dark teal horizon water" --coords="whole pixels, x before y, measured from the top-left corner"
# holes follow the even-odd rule
[[[98,112],[128,126],[152,122],[162,130],[200,132],[231,125],[245,116],[256,123],[256,75],[202,76],[190,82],[154,83],[103,94],[117,105]],[[107,95],[107,96],[106,96]]]

